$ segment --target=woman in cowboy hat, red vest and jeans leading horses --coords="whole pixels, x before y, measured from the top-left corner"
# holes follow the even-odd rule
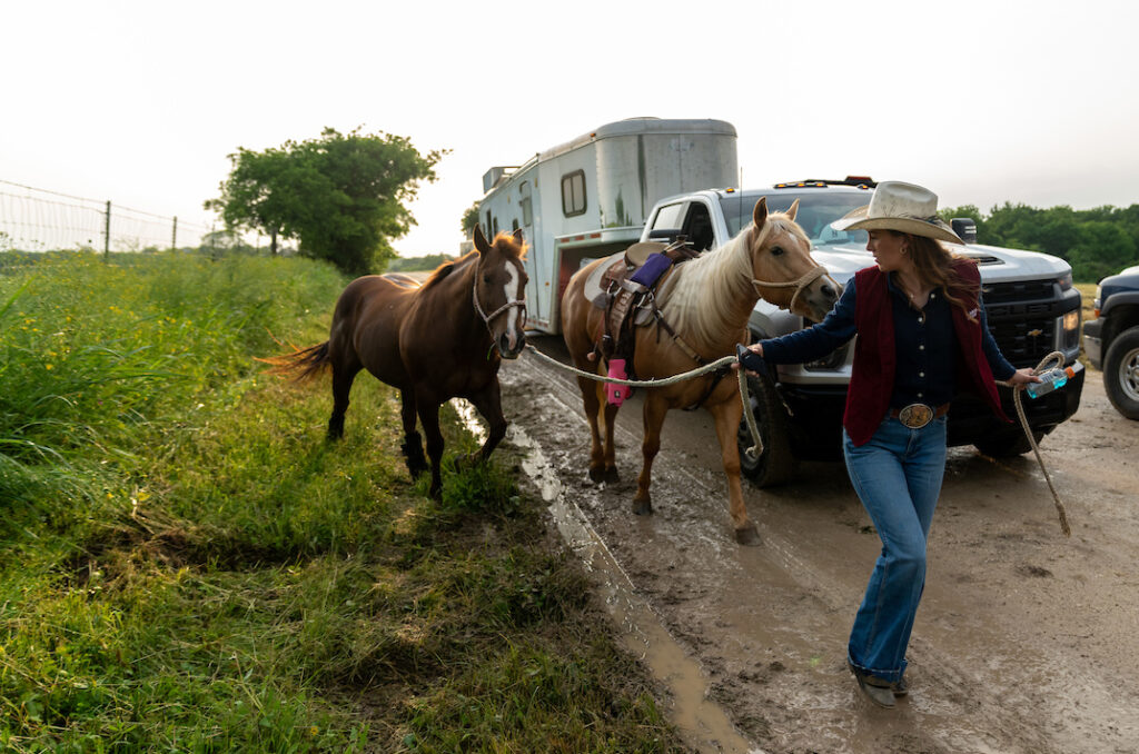
[[[945,415],[958,390],[983,398],[1006,421],[995,380],[1040,382],[997,347],[981,306],[976,263],[939,241],[962,243],[937,218],[937,197],[883,182],[870,204],[831,224],[865,229],[876,267],[859,270],[826,319],[749,350],[768,363],[819,359],[858,334],[843,415],[843,454],[870,514],[882,554],[847,646],[862,694],[893,707],[907,692],[906,647],[921,599],[926,540],[945,472]],[[757,356],[743,364],[762,369]]]

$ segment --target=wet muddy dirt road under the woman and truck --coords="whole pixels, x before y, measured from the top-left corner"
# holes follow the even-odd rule
[[[564,355],[559,338],[533,342]],[[994,461],[951,449],[909,653],[911,692],[893,711],[865,703],[844,665],[879,543],[842,464],[804,465],[777,490],[745,482],[761,542],[740,547],[705,412],[669,415],[655,513],[634,516],[639,400],[617,420],[622,481],[595,485],[573,378],[530,354],[500,376],[507,418],[540,449],[560,495],[667,641],[698,663],[710,700],[748,747],[1139,752],[1139,423],[1112,409],[1099,372],[1076,416],[1042,444],[1071,539],[1031,453]],[[738,749],[699,731],[693,741]]]

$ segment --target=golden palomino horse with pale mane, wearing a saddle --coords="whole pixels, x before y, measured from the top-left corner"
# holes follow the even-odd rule
[[[724,246],[679,264],[659,285],[657,305],[679,338],[705,362],[735,353],[737,343],[747,343],[747,318],[762,295],[767,301],[789,308],[797,314],[821,320],[838,297],[841,287],[811,259],[811,243],[795,224],[798,202],[786,213],[768,215],[765,199],[760,199],[749,224]],[[562,296],[562,330],[574,364],[583,371],[604,372],[591,354],[604,328],[605,312],[584,295],[589,274],[598,260],[571,278]],[[689,371],[697,363],[659,325],[637,328],[633,371],[638,379],[661,379]],[[715,419],[716,437],[723,470],[728,475],[728,498],[736,539],[741,543],[756,540],[754,524],[744,507],[739,485],[739,450],[736,433],[743,416],[743,403],[736,379],[722,375],[705,375],[662,387],[645,390],[641,442],[644,466],[637,477],[633,513],[653,511],[649,481],[653,459],[661,449],[661,427],[670,409],[696,404],[707,409]],[[605,403],[605,443],[598,428],[604,396],[600,383],[579,377],[585,416],[592,439],[589,476],[595,482],[616,480],[613,448],[614,419],[617,407]]]

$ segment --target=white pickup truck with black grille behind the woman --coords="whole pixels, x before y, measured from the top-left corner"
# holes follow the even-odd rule
[[[778,183],[757,190],[710,189],[663,198],[648,215],[640,240],[670,240],[683,235],[697,249],[715,248],[735,236],[752,218],[761,196],[768,208],[784,211],[800,200],[796,221],[811,237],[816,261],[838,282],[874,263],[866,251],[866,232],[830,228],[834,220],[870,200],[870,179]],[[1036,252],[980,246],[973,241],[972,220],[954,220],[967,241],[953,251],[977,260],[982,301],[989,329],[1001,351],[1017,368],[1035,367],[1052,351],[1064,354],[1075,370],[1062,390],[1023,401],[1029,424],[1039,441],[1080,405],[1083,368],[1080,353],[1080,292],[1072,286],[1072,268],[1064,260]],[[752,313],[753,338],[772,337],[810,322],[760,301]],[[835,460],[842,457],[842,416],[850,382],[853,349],[847,344],[827,358],[806,364],[779,367],[770,377],[752,379],[751,410],[764,434],[757,460],[740,453],[744,472],[760,486],[790,478],[796,460]],[[1006,413],[1016,416],[1011,393],[1001,390]],[[1031,445],[1018,424],[1007,425],[972,395],[954,398],[949,412],[950,445],[976,445],[994,456],[1025,453]],[[751,445],[746,426],[740,445]]]

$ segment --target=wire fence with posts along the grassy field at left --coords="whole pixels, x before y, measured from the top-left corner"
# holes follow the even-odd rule
[[[197,248],[215,244],[216,236],[177,216],[0,179],[0,251]]]

